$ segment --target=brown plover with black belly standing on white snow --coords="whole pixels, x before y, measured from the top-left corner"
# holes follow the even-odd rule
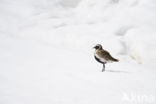
[[[95,49],[94,58],[96,61],[103,64],[102,72],[105,71],[106,63],[119,61],[118,59],[112,57],[108,51],[104,50],[101,44],[97,44],[93,48]]]

